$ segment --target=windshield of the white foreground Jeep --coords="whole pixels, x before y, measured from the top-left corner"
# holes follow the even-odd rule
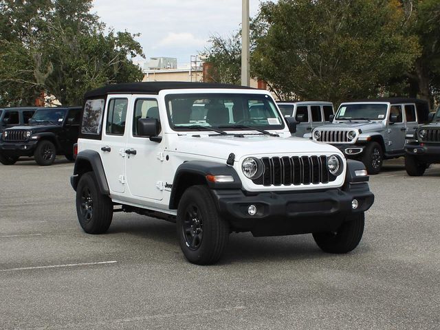
[[[166,111],[173,129],[283,129],[272,98],[261,94],[171,94]]]

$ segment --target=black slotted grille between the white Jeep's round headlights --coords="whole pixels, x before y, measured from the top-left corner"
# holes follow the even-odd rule
[[[327,184],[336,177],[329,175],[326,156],[263,157],[263,174],[252,180],[263,186]]]

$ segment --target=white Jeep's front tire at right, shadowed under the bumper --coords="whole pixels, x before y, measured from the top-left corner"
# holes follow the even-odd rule
[[[353,214],[336,232],[316,232],[316,244],[324,252],[343,254],[354,250],[364,233],[364,212]]]

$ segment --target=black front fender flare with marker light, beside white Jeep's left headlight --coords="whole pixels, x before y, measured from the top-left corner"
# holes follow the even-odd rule
[[[234,181],[211,182],[206,179],[206,175],[230,175]],[[188,177],[195,181],[188,181]],[[232,166],[198,160],[184,162],[179,165],[174,175],[169,202],[170,210],[177,209],[184,190],[194,184],[206,184],[210,189],[241,189],[241,179]]]

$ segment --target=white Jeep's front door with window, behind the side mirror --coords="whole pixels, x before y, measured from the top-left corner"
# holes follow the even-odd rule
[[[130,118],[131,129],[126,141],[127,184],[131,195],[161,200],[165,188],[162,179],[164,166],[164,146],[162,142],[150,141],[137,134],[137,120],[156,118],[160,122],[157,98],[154,96],[133,96],[133,111]]]

